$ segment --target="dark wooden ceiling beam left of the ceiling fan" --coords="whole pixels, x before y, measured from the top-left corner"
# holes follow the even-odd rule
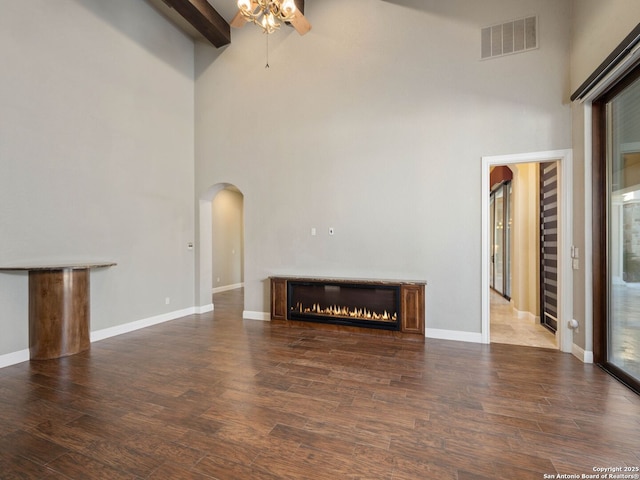
[[[231,43],[231,27],[207,0],[163,1],[178,12],[216,48]]]

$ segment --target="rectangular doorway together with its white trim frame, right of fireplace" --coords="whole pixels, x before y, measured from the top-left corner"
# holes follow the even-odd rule
[[[571,238],[571,151],[483,157],[482,163],[482,341],[570,352],[571,256],[563,252],[569,251]],[[507,166],[513,171],[513,180],[492,185],[491,171]],[[545,195],[550,194],[544,187],[544,172],[549,166],[557,167],[558,190],[555,204],[544,206],[541,201],[549,203]],[[540,218],[540,212],[545,211],[548,221]],[[545,226],[556,231],[547,231]],[[552,242],[545,244],[545,238]],[[551,278],[549,271],[555,278],[545,285],[545,278]],[[554,310],[545,302],[553,303]],[[540,325],[541,316],[549,315],[557,322],[555,338]],[[522,330],[521,339],[515,328]],[[505,333],[515,338],[508,341]]]

